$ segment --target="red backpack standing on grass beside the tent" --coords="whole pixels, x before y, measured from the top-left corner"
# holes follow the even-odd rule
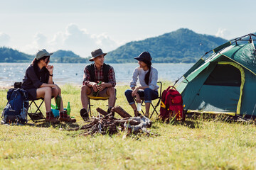
[[[176,120],[185,120],[182,96],[174,86],[169,86],[163,91],[159,117],[163,121],[169,121],[174,117]]]

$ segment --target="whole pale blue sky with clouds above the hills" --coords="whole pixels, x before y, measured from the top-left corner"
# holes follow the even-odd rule
[[[0,47],[89,57],[179,28],[227,40],[256,32],[252,0],[0,0]]]

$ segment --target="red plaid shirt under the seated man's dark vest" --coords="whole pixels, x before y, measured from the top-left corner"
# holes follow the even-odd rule
[[[89,65],[87,65],[84,69],[84,76],[83,76],[83,81],[82,81],[83,85],[90,83],[90,72],[89,72],[88,66]],[[100,70],[97,70],[95,64],[94,64],[94,67],[95,67],[95,82],[97,82],[97,81],[104,82],[103,70],[102,70],[103,66],[100,68]],[[111,66],[110,66],[109,73],[108,73],[108,79],[109,79],[109,81],[105,82],[105,83],[110,83],[114,87],[116,85],[116,81],[115,81],[115,76],[114,76],[114,69]]]

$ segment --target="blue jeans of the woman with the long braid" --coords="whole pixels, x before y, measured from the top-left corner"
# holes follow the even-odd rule
[[[133,104],[134,102],[134,98],[132,97],[132,90],[126,90],[124,92],[127,101],[129,102],[129,104]],[[156,98],[158,98],[158,91],[154,91],[152,89],[146,88],[144,90],[139,90],[138,94],[141,98],[144,98],[144,102],[145,103],[151,103],[151,100],[154,100]]]

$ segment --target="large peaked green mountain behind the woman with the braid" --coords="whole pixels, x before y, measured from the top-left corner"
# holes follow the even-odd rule
[[[105,61],[109,63],[137,62],[134,57],[148,51],[152,62],[196,62],[205,52],[227,42],[213,35],[203,35],[181,28],[154,38],[128,42],[108,52]]]

